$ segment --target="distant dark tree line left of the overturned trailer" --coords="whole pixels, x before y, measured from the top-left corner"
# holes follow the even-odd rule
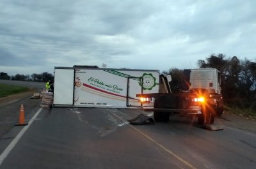
[[[33,73],[32,75],[20,75],[9,76],[8,73],[0,72],[0,79],[4,80],[20,80],[20,81],[33,81],[33,82],[47,82],[53,81],[54,76],[51,73],[44,72],[40,74]]]

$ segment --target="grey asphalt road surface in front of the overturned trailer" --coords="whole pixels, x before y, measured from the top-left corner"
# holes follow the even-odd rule
[[[19,101],[29,103],[26,119],[31,120],[1,136],[0,168],[256,166],[255,121],[224,114],[216,119],[224,129],[208,131],[198,128],[196,119],[175,115],[170,122],[132,126],[127,119],[145,112],[56,107],[50,111],[40,108],[38,100]]]

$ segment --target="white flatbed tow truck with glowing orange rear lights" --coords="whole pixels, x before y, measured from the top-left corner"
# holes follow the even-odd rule
[[[156,122],[168,122],[170,115],[184,114],[198,118],[198,124],[212,129],[214,117],[223,114],[220,71],[214,68],[184,70],[187,87],[179,93],[171,91],[170,75],[159,78],[159,92],[136,94],[141,104],[154,103],[154,107],[143,107],[154,112]]]

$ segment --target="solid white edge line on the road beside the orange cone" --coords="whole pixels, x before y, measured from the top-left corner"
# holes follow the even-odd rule
[[[12,140],[12,142],[8,145],[8,147],[6,147],[6,149],[0,156],[0,166],[3,163],[4,159],[12,151],[13,147],[15,147],[15,145],[19,142],[20,138],[22,137],[22,135],[24,135],[24,133],[27,131],[29,126],[32,124],[32,122],[35,121],[36,117],[38,116],[38,114],[40,114],[41,111],[42,111],[42,107],[39,108],[39,110],[36,112],[36,114],[30,119],[30,121],[28,122],[28,125],[24,126],[24,128],[22,128],[20,133]]]

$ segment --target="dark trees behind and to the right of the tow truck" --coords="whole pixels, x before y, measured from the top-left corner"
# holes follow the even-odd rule
[[[198,67],[220,71],[221,94],[227,105],[256,110],[256,62],[211,54],[205,60],[198,60]],[[172,91],[180,92],[184,82],[183,70],[171,68],[163,73],[172,76]]]

